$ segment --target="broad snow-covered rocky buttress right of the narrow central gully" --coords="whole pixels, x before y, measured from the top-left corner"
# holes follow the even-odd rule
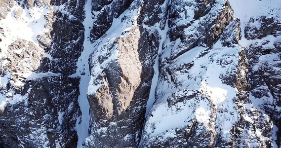
[[[229,2],[216,1],[208,6],[223,8],[220,9],[221,11],[215,11],[216,13],[210,8],[209,12],[197,17],[199,20],[191,20],[189,25],[185,23],[187,29],[178,27],[179,23],[177,23],[175,28],[181,29],[179,33],[171,34],[174,28],[169,26],[171,29],[168,31],[168,39],[170,40],[163,44],[160,58],[156,102],[150,111],[151,115],[147,118],[141,147],[242,147],[248,140],[251,141],[250,146],[272,147],[271,119],[253,107],[247,96],[250,88],[246,78],[248,63],[245,52],[238,46],[241,37],[240,20],[234,19]],[[202,20],[206,18],[215,18],[215,20],[203,23]],[[196,23],[202,26],[192,27]],[[213,32],[204,29],[210,24],[214,26]],[[200,40],[194,35],[203,32],[207,33],[202,43],[208,48],[194,48],[199,45]],[[179,37],[173,38],[177,37],[177,34]],[[185,37],[185,34],[190,36]],[[185,41],[187,39],[193,40]],[[223,46],[228,47],[224,49]],[[177,49],[179,47],[180,49]],[[239,52],[243,53],[242,60],[237,58]],[[224,94],[223,89],[216,90],[219,88],[228,91]],[[195,101],[199,95],[186,94],[186,89],[193,90],[188,92],[199,91],[204,96],[200,101],[205,100],[205,102]],[[238,91],[235,93],[235,90]],[[186,96],[189,96],[189,99],[185,99]],[[225,99],[219,101],[224,98],[223,96]],[[186,106],[186,104],[191,105]],[[169,118],[176,119],[177,122],[166,121]],[[262,119],[256,120],[256,118]],[[261,123],[264,126],[256,126]],[[226,127],[227,124],[230,126]],[[241,128],[236,128],[236,124]],[[177,132],[183,129],[186,131],[185,134]],[[247,140],[242,139],[248,131],[257,130],[263,131],[264,137],[250,136]]]

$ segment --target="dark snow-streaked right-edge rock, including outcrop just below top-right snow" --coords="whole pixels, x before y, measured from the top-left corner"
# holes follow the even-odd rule
[[[245,48],[249,60],[250,97],[255,105],[268,114],[280,131],[281,114],[281,41],[280,23],[274,17],[264,16],[251,19],[250,23],[259,22],[261,26],[247,25],[245,37],[255,40]],[[279,27],[279,28],[278,28]],[[267,29],[265,29],[267,28]],[[248,35],[248,36],[246,36]],[[277,144],[281,146],[281,134],[276,134]]]

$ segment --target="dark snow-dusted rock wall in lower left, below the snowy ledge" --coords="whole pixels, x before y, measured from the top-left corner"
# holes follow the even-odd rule
[[[76,148],[78,84],[66,76],[28,80],[27,90],[14,94],[0,117],[0,146]]]

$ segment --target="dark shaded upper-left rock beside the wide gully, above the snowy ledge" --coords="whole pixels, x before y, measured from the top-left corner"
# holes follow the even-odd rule
[[[53,0],[52,4],[61,5],[62,2]],[[50,8],[49,13],[45,16],[47,20],[45,27],[49,30],[38,38],[41,46],[45,48],[51,59],[46,57],[42,60],[42,67],[39,70],[66,75],[76,73],[76,64],[83,50],[84,28],[81,21],[84,19],[84,13],[81,12],[83,12],[84,2],[80,1],[77,5],[67,7],[73,17],[65,11],[57,10],[53,12],[54,9]],[[68,1],[67,5],[73,3],[74,1]],[[77,13],[77,11],[80,13]]]

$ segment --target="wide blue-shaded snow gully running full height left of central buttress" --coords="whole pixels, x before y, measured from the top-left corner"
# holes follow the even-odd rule
[[[84,50],[81,52],[80,58],[78,59],[76,74],[72,75],[74,77],[80,76],[80,85],[79,85],[80,96],[78,102],[82,114],[77,119],[77,123],[76,123],[76,130],[79,138],[77,148],[85,148],[84,146],[85,138],[89,135],[88,131],[89,131],[89,121],[90,121],[90,114],[89,114],[90,105],[87,100],[87,87],[90,81],[88,58],[89,55],[92,53],[91,49],[93,49],[91,42],[89,40],[90,29],[93,24],[91,9],[92,9],[91,0],[87,0],[84,7],[85,19],[83,21],[83,25],[85,29],[84,42],[83,42]]]

